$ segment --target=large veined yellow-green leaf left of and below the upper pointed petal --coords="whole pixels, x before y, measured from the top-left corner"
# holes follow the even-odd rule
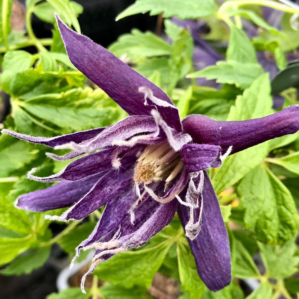
[[[29,115],[46,120],[48,126],[59,127],[65,133],[109,126],[121,113],[121,109],[101,89],[90,87],[43,94],[17,104]]]

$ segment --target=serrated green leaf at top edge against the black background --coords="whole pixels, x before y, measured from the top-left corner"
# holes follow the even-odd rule
[[[185,0],[184,4],[180,0],[173,0],[171,5],[167,0],[138,0],[116,17],[116,21],[137,13],[150,12],[150,16],[164,13],[164,18],[178,16],[180,19],[197,19],[204,16],[211,16],[216,13],[215,2],[213,0],[197,1]]]

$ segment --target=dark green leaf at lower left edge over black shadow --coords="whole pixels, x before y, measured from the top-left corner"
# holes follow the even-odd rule
[[[16,257],[8,267],[1,270],[2,275],[30,274],[33,270],[43,266],[50,256],[51,248],[44,247],[29,254]]]

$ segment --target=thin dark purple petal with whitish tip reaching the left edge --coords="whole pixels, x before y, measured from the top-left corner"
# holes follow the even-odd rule
[[[56,147],[65,143],[75,142],[80,143],[84,140],[94,138],[106,128],[91,129],[56,137],[34,137],[30,135],[21,134],[11,130],[3,129],[1,133],[12,135],[16,138],[23,139],[32,143],[43,144],[48,147]]]

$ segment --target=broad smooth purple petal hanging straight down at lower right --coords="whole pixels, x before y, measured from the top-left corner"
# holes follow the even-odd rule
[[[207,173],[204,173],[201,230],[193,241],[187,239],[200,278],[211,291],[216,292],[231,282],[231,254],[218,199]],[[196,212],[199,213],[199,208]],[[190,217],[189,208],[179,205],[178,213],[184,227]]]

